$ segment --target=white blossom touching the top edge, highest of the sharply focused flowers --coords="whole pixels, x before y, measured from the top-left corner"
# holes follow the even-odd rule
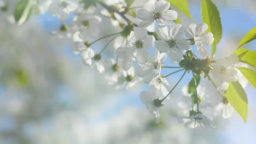
[[[143,7],[137,11],[137,16],[142,21],[141,26],[149,26],[156,21],[160,26],[169,26],[172,21],[177,19],[178,13],[169,10],[170,3],[164,0],[149,0]]]

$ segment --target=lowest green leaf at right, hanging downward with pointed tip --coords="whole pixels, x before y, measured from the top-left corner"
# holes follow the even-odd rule
[[[246,122],[248,114],[248,100],[245,90],[243,90],[241,84],[238,81],[229,82],[229,88],[226,90],[226,98],[228,98],[230,104],[243,118],[243,121]]]

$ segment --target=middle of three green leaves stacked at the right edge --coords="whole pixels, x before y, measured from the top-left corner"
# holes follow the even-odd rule
[[[239,57],[240,62],[247,63],[256,68],[256,51],[238,49],[234,53]]]

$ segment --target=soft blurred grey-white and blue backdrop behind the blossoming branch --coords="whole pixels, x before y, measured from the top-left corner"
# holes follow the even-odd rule
[[[201,23],[201,1],[188,0],[192,22]],[[15,7],[18,1],[11,1]],[[143,4],[144,1],[136,1]],[[219,8],[223,38],[216,58],[229,56],[242,37],[256,26],[255,0],[214,0]],[[116,90],[104,76],[74,55],[71,40],[49,34],[61,22],[49,13],[33,16],[17,26],[11,11],[0,11],[0,143],[256,143],[255,89],[245,82],[249,101],[247,123],[236,112],[229,119],[214,116],[216,129],[187,129],[174,116],[183,115],[177,103],[184,97],[179,85],[165,101],[161,121],[139,101],[147,90],[140,83],[132,91]],[[182,14],[181,14],[182,15]],[[71,16],[72,19],[72,16]],[[103,18],[101,35],[106,35]],[[185,21],[185,20],[184,20]],[[102,46],[106,41],[97,46]],[[255,41],[247,49],[256,49]],[[165,73],[165,71],[164,71]],[[179,75],[168,77],[177,81]],[[175,83],[171,83],[173,86]],[[203,80],[208,97],[220,97]],[[175,114],[174,114],[175,113]]]

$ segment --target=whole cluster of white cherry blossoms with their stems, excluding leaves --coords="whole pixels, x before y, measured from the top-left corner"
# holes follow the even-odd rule
[[[81,56],[85,65],[103,74],[109,85],[117,89],[131,89],[136,83],[147,83],[149,89],[141,92],[140,99],[154,113],[156,121],[160,121],[160,110],[164,106],[162,102],[172,96],[173,89],[186,74],[193,74],[193,80],[183,91],[192,103],[185,105],[181,101],[178,104],[187,115],[179,117],[186,127],[215,127],[212,119],[200,111],[205,103],[202,97],[205,92],[200,92],[202,85],[196,77],[202,75],[223,95],[223,101],[220,101],[216,110],[223,111],[224,118],[230,117],[233,109],[223,93],[230,81],[238,80],[238,57],[233,54],[214,60],[207,50],[214,41],[207,24],[202,22],[199,25],[190,23],[183,26],[177,22],[178,13],[170,9],[169,2],[149,0],[143,7],[133,7],[132,2],[39,0],[37,5],[40,13],[49,11],[62,22],[60,28],[51,33],[72,40],[73,53]],[[69,25],[66,22],[71,14],[74,16]],[[110,20],[107,22],[120,31],[98,38],[102,30],[100,25],[106,17]],[[95,43],[109,38],[98,52]],[[112,42],[114,46],[110,47]],[[107,52],[112,52],[112,55],[109,56]],[[174,66],[165,65],[167,61]],[[177,71],[164,75],[163,69]],[[166,77],[180,71],[183,71],[181,79],[177,82],[167,81]],[[174,87],[171,87],[172,84]],[[191,87],[193,85],[195,88]],[[210,105],[210,102],[205,105]]]

